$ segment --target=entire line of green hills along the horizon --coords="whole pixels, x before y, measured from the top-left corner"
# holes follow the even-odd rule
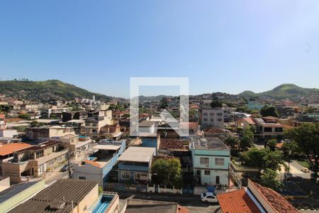
[[[217,92],[223,95],[225,99],[233,99],[234,97],[257,98],[257,99],[301,99],[308,97],[313,91],[319,89],[309,89],[298,87],[295,84],[281,84],[267,92],[254,93],[252,91],[245,91],[240,94],[227,94]],[[6,94],[9,97],[28,99],[35,102],[49,102],[55,100],[72,100],[74,98],[88,98],[91,99],[95,95],[96,100],[108,102],[113,98],[104,94],[89,92],[86,89],[76,87],[72,84],[62,82],[60,80],[46,80],[46,81],[28,81],[28,80],[10,80],[0,81],[0,93]],[[140,96],[139,102],[162,100],[163,97],[173,98],[173,96],[157,95],[151,97]],[[211,94],[191,95],[190,99],[212,99]],[[124,100],[124,99],[123,99]]]

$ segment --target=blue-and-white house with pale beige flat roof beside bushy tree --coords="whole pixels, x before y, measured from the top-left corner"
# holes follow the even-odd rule
[[[156,148],[129,147],[118,158],[118,182],[146,184],[151,180],[152,158]]]

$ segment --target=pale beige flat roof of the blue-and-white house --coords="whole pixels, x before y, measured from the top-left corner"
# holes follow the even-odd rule
[[[118,161],[148,163],[152,160],[155,151],[156,148],[131,146],[118,158]]]

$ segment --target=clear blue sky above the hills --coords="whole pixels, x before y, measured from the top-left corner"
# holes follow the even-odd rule
[[[0,78],[121,97],[130,77],[189,77],[191,94],[319,87],[318,38],[318,0],[1,1]]]

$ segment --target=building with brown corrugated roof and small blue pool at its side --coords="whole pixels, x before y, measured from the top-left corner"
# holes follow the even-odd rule
[[[98,182],[88,180],[57,180],[30,200],[19,204],[9,213],[26,212],[119,212],[115,192],[99,194]]]

